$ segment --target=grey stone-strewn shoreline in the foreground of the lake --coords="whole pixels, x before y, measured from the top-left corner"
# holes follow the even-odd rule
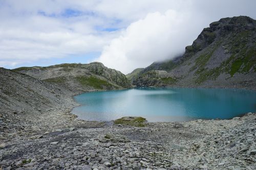
[[[2,169],[255,169],[256,114],[230,120],[106,125],[61,106],[3,122]],[[4,116],[4,115],[1,115]],[[20,126],[18,117],[24,121]],[[19,126],[15,127],[15,123]],[[12,126],[8,128],[10,125]],[[17,128],[19,127],[19,128]],[[24,128],[20,128],[24,127]]]

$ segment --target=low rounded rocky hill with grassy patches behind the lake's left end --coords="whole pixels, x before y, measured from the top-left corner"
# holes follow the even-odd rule
[[[131,83],[120,71],[105,67],[102,63],[59,64],[48,67],[20,67],[21,72],[44,82],[55,83],[72,91],[121,89]]]

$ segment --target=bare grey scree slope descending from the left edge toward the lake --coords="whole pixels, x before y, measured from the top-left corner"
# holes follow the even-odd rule
[[[65,88],[0,68],[0,129],[5,129],[6,123],[9,128],[21,127],[53,108],[69,106],[72,101],[67,96],[72,94]]]

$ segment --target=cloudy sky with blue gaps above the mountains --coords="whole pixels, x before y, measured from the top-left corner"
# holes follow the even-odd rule
[[[184,53],[254,0],[0,0],[0,67],[102,62],[128,74]]]

